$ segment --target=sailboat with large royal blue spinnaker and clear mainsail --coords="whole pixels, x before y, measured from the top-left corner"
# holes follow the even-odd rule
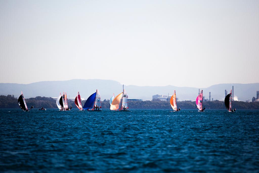
[[[102,110],[101,106],[101,95],[98,89],[96,89],[96,92],[93,93],[88,97],[86,102],[84,103],[83,109],[84,110]]]

